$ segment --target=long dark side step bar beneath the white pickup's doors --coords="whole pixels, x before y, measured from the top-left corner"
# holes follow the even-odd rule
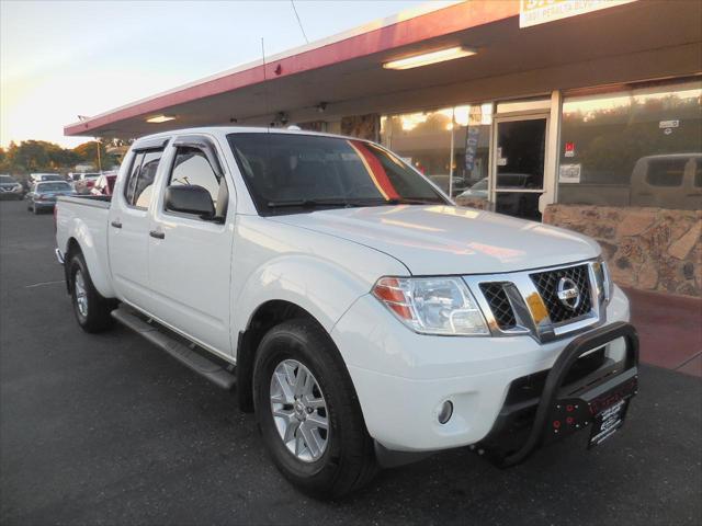
[[[228,390],[235,386],[235,375],[169,335],[168,329],[144,321],[139,315],[124,305],[113,310],[112,317],[218,387]]]

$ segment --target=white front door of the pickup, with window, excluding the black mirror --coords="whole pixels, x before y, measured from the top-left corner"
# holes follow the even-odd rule
[[[148,242],[154,315],[211,350],[228,355],[234,187],[215,140],[176,138],[160,179]],[[199,185],[210,192],[215,220],[169,209],[169,185]]]

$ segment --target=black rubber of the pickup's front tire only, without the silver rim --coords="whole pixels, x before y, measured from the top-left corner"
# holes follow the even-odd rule
[[[314,461],[303,461],[287,449],[273,419],[271,381],[285,359],[307,367],[324,393],[329,435],[326,449]],[[315,498],[339,498],[363,487],[377,472],[373,441],[349,373],[327,332],[313,320],[290,320],[263,336],[253,368],[253,404],[269,454],[301,491]]]

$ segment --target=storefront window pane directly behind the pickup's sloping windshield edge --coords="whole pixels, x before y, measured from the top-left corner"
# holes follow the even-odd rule
[[[381,140],[404,161],[449,190],[453,108],[390,115],[381,119]]]

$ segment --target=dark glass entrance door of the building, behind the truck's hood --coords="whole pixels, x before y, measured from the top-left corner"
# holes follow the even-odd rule
[[[495,119],[490,192],[496,211],[541,221],[547,129],[547,115]]]

